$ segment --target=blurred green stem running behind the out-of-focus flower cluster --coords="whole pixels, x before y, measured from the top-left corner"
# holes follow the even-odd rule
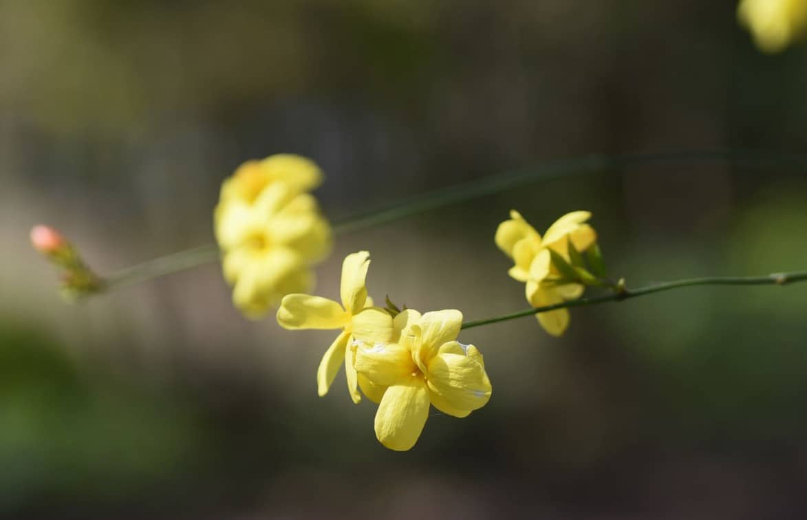
[[[691,150],[684,152],[591,155],[554,160],[530,168],[483,177],[474,181],[437,189],[406,198],[394,206],[378,208],[341,219],[333,225],[335,235],[361,231],[379,224],[391,223],[414,214],[436,210],[443,206],[470,201],[474,198],[515,189],[537,181],[576,177],[597,172],[623,170],[638,165],[675,166],[683,164],[718,163],[742,168],[798,167],[807,168],[807,155],[745,150]],[[162,277],[220,260],[215,244],[201,246],[169,256],[161,256],[142,264],[124,268],[107,277],[103,289],[117,289],[140,281]]]

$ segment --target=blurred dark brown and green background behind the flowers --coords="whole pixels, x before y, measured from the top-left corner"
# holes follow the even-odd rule
[[[807,289],[700,288],[462,334],[494,386],[415,449],[374,439],[331,334],[249,322],[209,264],[68,306],[27,243],[100,272],[210,243],[243,160],[310,156],[332,219],[592,152],[802,152],[807,46],[760,53],[735,2],[0,1],[0,517],[797,518]],[[594,212],[629,285],[807,268],[804,168],[633,165],[339,237],[370,293],[525,307],[492,241]]]

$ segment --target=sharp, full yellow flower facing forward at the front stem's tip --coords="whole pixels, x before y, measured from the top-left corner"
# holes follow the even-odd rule
[[[358,342],[355,367],[362,391],[378,402],[375,435],[384,446],[412,448],[430,405],[462,418],[490,400],[482,354],[456,341],[461,327],[458,310],[403,310],[395,316],[397,343]]]

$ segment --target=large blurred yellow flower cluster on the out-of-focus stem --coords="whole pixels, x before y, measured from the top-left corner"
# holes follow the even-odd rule
[[[215,237],[232,301],[249,318],[312,288],[312,266],[332,244],[331,227],[307,193],[321,182],[316,164],[291,154],[249,160],[224,181]]]

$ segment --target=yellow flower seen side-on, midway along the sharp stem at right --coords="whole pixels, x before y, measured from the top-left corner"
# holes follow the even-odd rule
[[[515,262],[508,273],[526,282],[525,296],[533,307],[574,300],[583,294],[583,284],[558,283],[559,272],[550,251],[568,261],[570,241],[579,252],[591,247],[596,242],[596,232],[586,223],[591,216],[588,211],[565,214],[546,230],[543,238],[516,210],[510,211],[510,220],[499,225],[495,243]],[[558,309],[536,314],[536,318],[550,335],[559,336],[569,326],[570,315],[567,309]]]

